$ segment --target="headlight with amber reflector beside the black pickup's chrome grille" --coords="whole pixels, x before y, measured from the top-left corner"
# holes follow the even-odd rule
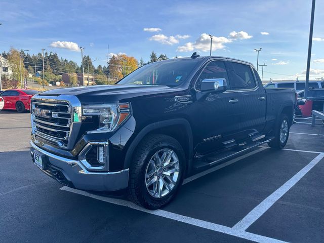
[[[84,116],[99,116],[99,126],[95,131],[113,131],[131,114],[130,103],[84,105]]]

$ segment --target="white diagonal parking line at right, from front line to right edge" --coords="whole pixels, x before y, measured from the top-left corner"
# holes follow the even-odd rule
[[[310,163],[301,169],[296,175],[288,180],[284,185],[280,186],[270,196],[265,198],[261,204],[255,207],[247,216],[234,225],[233,229],[245,231],[257,219],[259,219],[281,196],[283,196],[290,188],[292,188],[300,179],[303,178],[322,158],[324,153],[318,154]]]

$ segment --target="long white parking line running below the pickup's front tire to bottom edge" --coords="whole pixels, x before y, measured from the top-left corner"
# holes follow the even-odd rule
[[[89,192],[86,192],[86,191],[73,189],[73,188],[70,188],[70,187],[67,187],[67,186],[63,186],[60,189],[65,190],[65,191],[69,191],[69,192],[73,192],[73,193],[76,193],[76,194],[88,196],[88,197],[91,197],[91,198],[94,198],[94,199],[97,199],[97,200],[106,201],[107,203],[128,207],[128,208],[135,209],[135,210],[145,212],[145,213],[148,213],[148,214],[152,214],[152,215],[155,215],[155,216],[164,217],[164,218],[167,218],[167,219],[172,219],[172,220],[175,220],[175,221],[179,221],[179,222],[183,222],[183,223],[186,223],[186,224],[194,225],[194,226],[197,226],[197,227],[200,227],[200,228],[209,229],[209,230],[213,230],[213,231],[220,232],[220,233],[225,233],[225,234],[236,236],[236,237],[239,237],[239,238],[253,240],[255,242],[260,242],[260,243],[270,243],[270,242],[285,243],[285,241],[269,238],[269,237],[258,235],[258,234],[253,234],[253,233],[250,233],[250,232],[238,231],[238,230],[232,229],[232,228],[224,226],[224,225],[207,222],[207,221],[200,220],[200,219],[194,219],[194,218],[191,218],[191,217],[188,217],[188,216],[171,213],[171,212],[168,212],[168,211],[165,211],[165,210],[147,210],[147,209],[144,209],[142,207],[139,207],[138,205],[132,203],[131,201],[126,201],[126,200],[117,199],[117,198],[111,198],[111,197],[104,197],[104,196],[100,196],[100,195],[95,195],[95,194],[92,194],[92,193],[89,193]]]

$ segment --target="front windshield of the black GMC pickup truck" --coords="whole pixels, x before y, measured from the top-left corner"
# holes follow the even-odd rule
[[[147,64],[120,80],[118,85],[166,85],[176,87],[186,82],[199,61],[173,59]]]

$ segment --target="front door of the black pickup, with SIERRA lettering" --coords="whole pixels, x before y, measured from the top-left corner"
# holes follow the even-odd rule
[[[195,89],[200,90],[201,81],[210,78],[225,78],[229,84],[226,61],[209,62],[200,73]],[[195,152],[206,153],[223,146],[232,140],[239,131],[237,120],[238,106],[235,94],[218,93],[194,101],[193,135],[196,141]]]

